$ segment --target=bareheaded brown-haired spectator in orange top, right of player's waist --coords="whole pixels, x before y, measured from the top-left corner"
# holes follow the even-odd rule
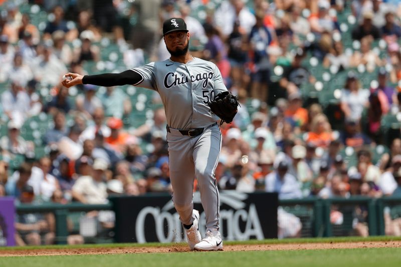
[[[324,114],[316,115],[312,120],[307,142],[318,147],[328,147],[331,140],[331,127],[327,117]]]

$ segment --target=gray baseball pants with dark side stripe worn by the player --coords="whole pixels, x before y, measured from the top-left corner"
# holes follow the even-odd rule
[[[220,196],[214,174],[221,141],[218,125],[206,128],[196,137],[184,136],[173,128],[167,132],[172,200],[183,224],[189,225],[193,221],[192,192],[196,177],[206,228],[219,229]]]

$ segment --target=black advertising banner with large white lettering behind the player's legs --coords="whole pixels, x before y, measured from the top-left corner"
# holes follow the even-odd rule
[[[114,197],[116,242],[181,242],[183,227],[168,194]],[[277,238],[276,193],[220,192],[220,232],[224,240]],[[200,194],[193,195],[204,235],[205,213]]]

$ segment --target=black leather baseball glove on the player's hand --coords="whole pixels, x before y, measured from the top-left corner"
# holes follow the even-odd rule
[[[220,125],[223,122],[231,123],[237,114],[238,99],[229,91],[220,92],[215,97],[215,100],[208,103],[210,110],[222,119]]]

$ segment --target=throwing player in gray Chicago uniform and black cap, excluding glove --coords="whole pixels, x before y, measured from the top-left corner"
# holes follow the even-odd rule
[[[172,200],[185,228],[190,249],[222,250],[219,232],[220,199],[214,172],[219,159],[222,134],[208,103],[227,91],[215,64],[192,57],[189,33],[180,18],[163,24],[164,43],[171,57],[161,62],[119,74],[79,75],[68,73],[62,84],[98,86],[133,85],[159,93],[167,117]],[[225,92],[227,94],[227,92]],[[206,214],[206,235],[198,230],[199,212],[193,209],[193,180],[198,181]]]

